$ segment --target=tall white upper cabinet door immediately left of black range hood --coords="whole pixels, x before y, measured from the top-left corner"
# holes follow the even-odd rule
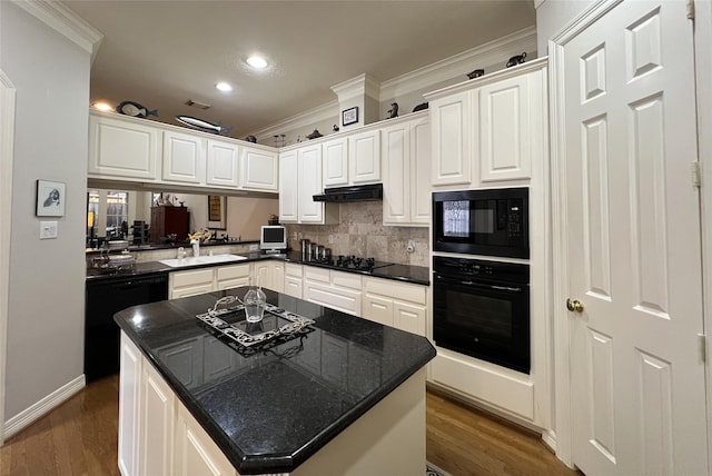
[[[300,222],[319,224],[324,221],[324,204],[314,201],[313,196],[322,192],[322,146],[315,145],[298,151],[298,182]]]

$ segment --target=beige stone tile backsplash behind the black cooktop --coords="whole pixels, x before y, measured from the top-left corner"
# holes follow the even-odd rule
[[[384,226],[382,201],[340,204],[339,207],[338,225],[286,225],[291,249],[299,250],[299,239],[305,238],[330,248],[333,256],[355,255],[399,265],[428,266],[427,227]],[[407,251],[408,240],[415,244],[413,252]]]

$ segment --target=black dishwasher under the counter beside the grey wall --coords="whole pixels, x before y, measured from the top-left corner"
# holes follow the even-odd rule
[[[119,371],[119,326],[113,315],[127,307],[168,298],[168,276],[110,276],[87,280],[85,377],[92,381]]]

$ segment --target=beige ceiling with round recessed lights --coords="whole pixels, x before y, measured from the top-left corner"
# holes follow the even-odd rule
[[[359,75],[385,81],[535,24],[533,0],[62,3],[105,36],[92,103],[131,100],[162,122],[194,116],[239,138],[336,100],[330,87]],[[244,63],[253,52],[266,71]]]

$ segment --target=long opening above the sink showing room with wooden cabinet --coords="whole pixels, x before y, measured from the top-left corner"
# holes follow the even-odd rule
[[[275,198],[194,195],[172,191],[87,190],[87,248],[126,239],[134,247],[182,244],[187,235],[209,229],[229,242],[255,241],[269,217],[279,212]]]

